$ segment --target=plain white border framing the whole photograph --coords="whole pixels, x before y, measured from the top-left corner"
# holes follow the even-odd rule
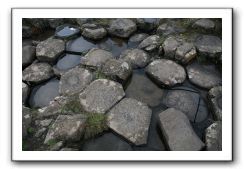
[[[22,151],[22,18],[222,18],[222,151]],[[232,9],[12,9],[13,161],[232,161]]]

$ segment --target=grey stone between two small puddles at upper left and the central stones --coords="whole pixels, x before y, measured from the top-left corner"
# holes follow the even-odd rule
[[[101,68],[108,59],[112,58],[113,55],[111,52],[93,48],[81,58],[81,64],[96,69]]]

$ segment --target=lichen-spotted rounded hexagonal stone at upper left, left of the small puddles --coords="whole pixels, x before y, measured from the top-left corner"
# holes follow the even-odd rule
[[[55,61],[65,50],[65,43],[61,39],[49,38],[36,46],[36,57],[40,61]]]

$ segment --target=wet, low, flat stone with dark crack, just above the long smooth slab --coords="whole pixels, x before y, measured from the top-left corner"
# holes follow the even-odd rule
[[[201,122],[208,116],[207,111],[199,110],[200,95],[190,90],[170,90],[163,101],[167,107],[175,108],[185,113],[191,122]],[[201,115],[198,115],[201,114]]]

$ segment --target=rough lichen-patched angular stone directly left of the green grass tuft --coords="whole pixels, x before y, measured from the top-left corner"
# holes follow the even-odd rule
[[[79,141],[85,129],[86,116],[59,115],[49,128],[44,144],[55,141]]]

